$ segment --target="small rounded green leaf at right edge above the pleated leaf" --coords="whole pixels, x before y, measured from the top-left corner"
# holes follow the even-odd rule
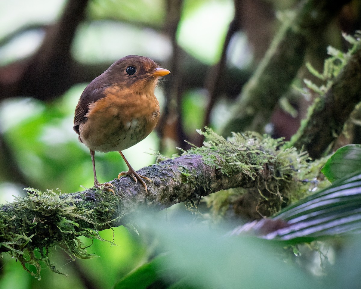
[[[339,148],[322,167],[321,172],[334,182],[361,170],[361,145],[348,144]]]

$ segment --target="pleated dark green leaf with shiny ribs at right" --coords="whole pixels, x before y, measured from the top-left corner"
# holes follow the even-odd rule
[[[233,233],[253,230],[270,240],[288,244],[310,242],[330,236],[361,232],[361,173],[335,181],[271,219],[236,228]]]

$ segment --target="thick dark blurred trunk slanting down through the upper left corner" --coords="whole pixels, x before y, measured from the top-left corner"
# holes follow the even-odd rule
[[[69,79],[77,79],[70,73],[74,65],[70,46],[87,3],[87,0],[68,1],[58,22],[48,27],[43,44],[35,55],[1,68],[3,98],[31,95],[51,99],[68,88]]]

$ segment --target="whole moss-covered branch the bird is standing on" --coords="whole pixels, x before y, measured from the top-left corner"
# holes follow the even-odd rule
[[[61,247],[73,258],[88,258],[78,238],[100,238],[98,230],[132,224],[132,213],[143,208],[162,210],[175,203],[234,187],[257,188],[278,211],[291,199],[290,191],[304,184],[307,156],[282,149],[280,140],[235,134],[231,141],[210,130],[204,147],[165,159],[139,172],[152,178],[146,193],[129,177],[112,181],[112,193],[87,189],[61,194],[31,193],[1,206],[0,252],[9,252],[40,272],[39,261],[51,269],[48,249]]]

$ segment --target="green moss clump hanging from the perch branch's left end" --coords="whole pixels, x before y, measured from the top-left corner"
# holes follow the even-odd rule
[[[52,190],[42,192],[32,188],[27,197],[16,198],[17,207],[3,210],[0,217],[0,234],[7,240],[0,240],[0,246],[8,249],[17,258],[24,269],[40,279],[41,263],[52,271],[60,273],[49,260],[49,248],[61,247],[69,256],[75,258],[91,258],[86,247],[78,237],[103,240],[97,230],[81,228],[79,223],[85,221],[95,224],[94,210],[87,210],[74,203],[81,198],[74,195],[60,195]],[[59,191],[60,193],[60,191]],[[11,212],[12,216],[8,212]],[[44,218],[46,216],[46,218]],[[21,228],[21,231],[18,231]],[[52,234],[49,239],[46,236]],[[35,267],[35,273],[29,265]]]

